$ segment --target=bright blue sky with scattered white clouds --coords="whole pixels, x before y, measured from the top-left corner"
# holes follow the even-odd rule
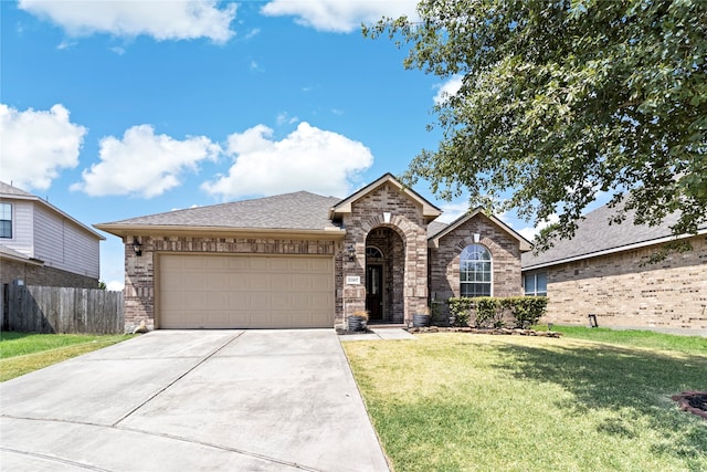
[[[0,180],[93,225],[401,175],[458,87],[362,36],[402,14],[415,1],[0,0]],[[414,190],[440,221],[467,210]],[[101,280],[122,290],[123,243],[102,234]]]

